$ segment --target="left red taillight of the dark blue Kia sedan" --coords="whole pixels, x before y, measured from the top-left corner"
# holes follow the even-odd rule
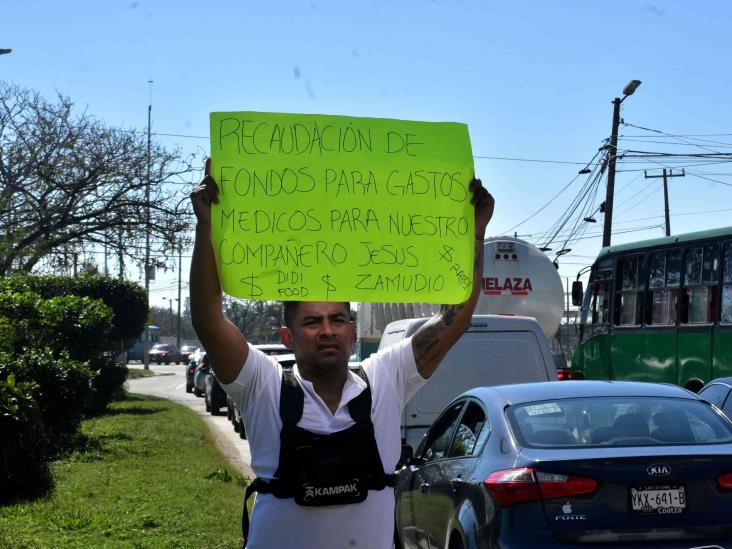
[[[502,507],[538,499],[578,496],[592,492],[597,481],[575,475],[544,473],[529,467],[496,471],[483,481]]]

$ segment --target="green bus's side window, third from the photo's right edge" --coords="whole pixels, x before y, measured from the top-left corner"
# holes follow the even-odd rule
[[[676,324],[681,253],[678,250],[651,254],[648,261],[650,318],[656,326]]]

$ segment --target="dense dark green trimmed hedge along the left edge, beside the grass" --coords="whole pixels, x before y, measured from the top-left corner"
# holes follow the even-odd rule
[[[52,487],[48,460],[122,391],[127,367],[114,358],[146,318],[144,290],[131,282],[0,279],[0,499]]]

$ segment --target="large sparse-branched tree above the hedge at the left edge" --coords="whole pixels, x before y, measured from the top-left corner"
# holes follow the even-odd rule
[[[148,205],[151,253],[172,259],[192,212],[170,184],[192,160],[77,113],[68,97],[0,81],[0,276],[71,263],[93,272],[102,246],[142,265]]]

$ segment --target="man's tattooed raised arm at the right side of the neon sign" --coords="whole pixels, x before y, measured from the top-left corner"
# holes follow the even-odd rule
[[[443,305],[412,337],[412,350],[420,375],[432,376],[447,352],[470,326],[480,295],[483,277],[483,238],[485,228],[493,216],[494,201],[480,179],[470,184],[473,192],[471,203],[475,207],[475,261],[473,263],[473,289],[470,297],[459,305]]]

